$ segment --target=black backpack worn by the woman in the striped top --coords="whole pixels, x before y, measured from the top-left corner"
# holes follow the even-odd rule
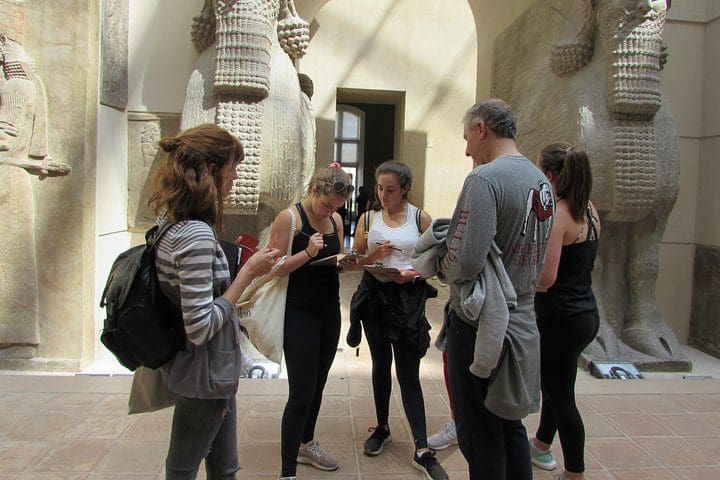
[[[107,313],[100,341],[130,370],[158,368],[185,348],[182,315],[160,291],[155,272],[155,245],[171,226],[169,220],[155,225],[145,245],[117,257],[100,300]]]

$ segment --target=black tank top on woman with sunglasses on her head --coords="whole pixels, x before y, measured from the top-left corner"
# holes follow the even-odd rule
[[[300,212],[302,225],[300,230],[305,233],[295,233],[293,237],[293,255],[307,248],[308,239],[316,230],[310,226],[307,214],[301,203],[296,204]],[[340,253],[340,239],[338,238],[335,219],[330,217],[333,232],[323,235],[325,246],[320,249],[313,260],[330,257]],[[306,236],[307,235],[307,236]],[[303,253],[303,255],[305,255]],[[334,311],[340,306],[340,279],[336,267],[311,267],[306,262],[302,267],[290,273],[288,282],[287,303],[309,312]]]

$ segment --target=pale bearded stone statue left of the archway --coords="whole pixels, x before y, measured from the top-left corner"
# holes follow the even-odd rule
[[[315,169],[311,93],[292,62],[308,47],[308,24],[292,0],[206,0],[192,38],[200,58],[181,129],[215,123],[242,141],[228,210],[252,216],[242,228],[257,233],[301,198]]]

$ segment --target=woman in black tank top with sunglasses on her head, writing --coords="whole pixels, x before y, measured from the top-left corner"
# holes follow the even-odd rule
[[[320,448],[315,424],[340,337],[340,279],[336,262],[312,262],[340,253],[343,224],[337,209],[353,192],[351,182],[338,163],[318,170],[307,195],[277,215],[270,233],[280,251],[292,242],[292,255],[278,270],[290,275],[283,339],[289,384],[281,427],[284,479],[296,478],[298,463],[325,471],[339,467]],[[291,215],[298,219],[293,235]]]

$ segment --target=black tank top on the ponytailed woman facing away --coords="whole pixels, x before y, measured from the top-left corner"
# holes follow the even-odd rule
[[[597,256],[597,229],[590,207],[585,212],[587,240],[563,245],[555,283],[547,292],[535,294],[535,312],[543,316],[568,317],[597,311],[592,291],[592,269]]]

